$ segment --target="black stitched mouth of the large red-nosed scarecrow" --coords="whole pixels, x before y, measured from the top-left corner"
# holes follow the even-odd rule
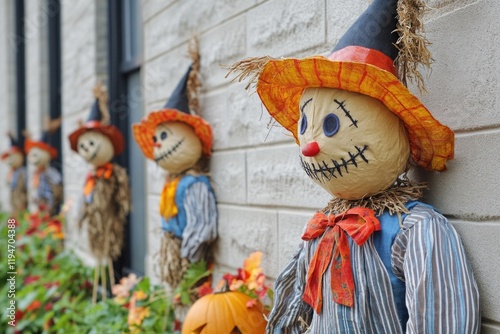
[[[320,182],[330,181],[332,178],[342,177],[344,174],[349,173],[350,168],[357,168],[360,163],[368,163],[368,159],[365,157],[365,151],[368,149],[368,145],[363,147],[354,146],[354,153],[349,151],[349,159],[342,158],[340,160],[331,159],[330,162],[325,160],[317,163],[309,163],[304,161],[302,155],[300,156],[300,164],[302,169],[306,174],[315,180]]]

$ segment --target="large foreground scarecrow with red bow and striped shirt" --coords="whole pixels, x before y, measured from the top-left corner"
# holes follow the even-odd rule
[[[453,132],[404,84],[425,89],[416,71],[431,59],[424,8],[374,0],[328,57],[230,67],[256,81],[271,117],[299,145],[306,174],[334,196],[276,280],[268,333],[479,332],[461,240],[417,201],[424,186],[406,176],[408,162],[444,171],[453,158]]]

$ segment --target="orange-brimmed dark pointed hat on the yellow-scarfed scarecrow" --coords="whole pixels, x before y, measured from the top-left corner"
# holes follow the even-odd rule
[[[203,118],[189,112],[187,87],[192,66],[181,79],[163,109],[149,113],[140,123],[132,125],[134,139],[146,158],[154,160],[153,136],[156,127],[165,122],[183,122],[191,126],[202,144],[202,152],[210,156],[212,150],[212,128]]]

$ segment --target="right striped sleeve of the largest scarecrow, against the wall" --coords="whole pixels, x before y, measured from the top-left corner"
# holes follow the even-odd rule
[[[460,237],[444,216],[416,206],[395,240],[392,261],[406,282],[406,333],[479,333],[477,284]]]

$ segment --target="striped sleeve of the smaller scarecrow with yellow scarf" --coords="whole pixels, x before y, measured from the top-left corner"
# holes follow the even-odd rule
[[[217,238],[215,196],[203,182],[193,183],[184,197],[186,227],[182,232],[181,256],[190,262],[205,258],[210,244]]]

